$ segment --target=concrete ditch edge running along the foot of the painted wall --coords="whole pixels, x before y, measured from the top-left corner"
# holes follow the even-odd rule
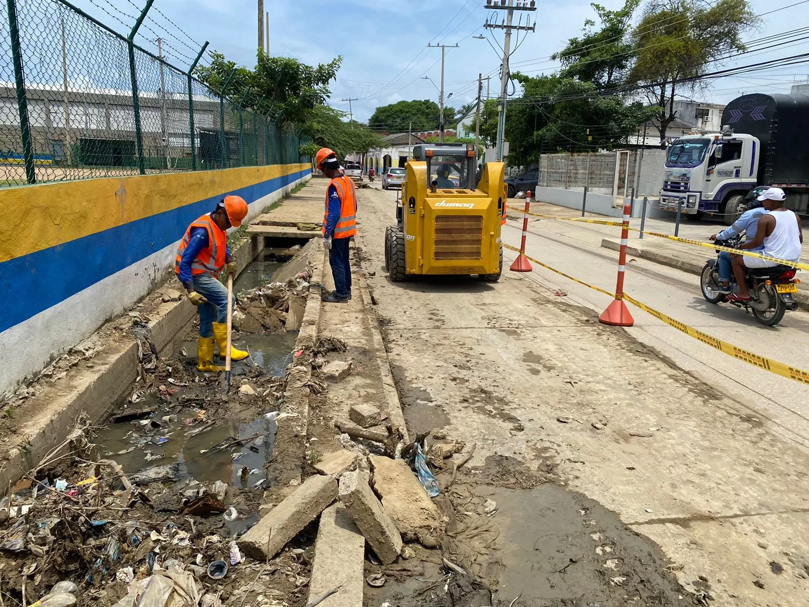
[[[239,273],[260,252],[254,239],[244,240],[233,252]],[[173,278],[169,278],[172,280]],[[168,281],[167,281],[168,282]],[[166,282],[155,289],[165,287]],[[152,291],[154,293],[155,291]],[[152,342],[159,353],[179,346],[184,329],[196,310],[187,299],[161,304],[149,326]],[[32,469],[48,452],[61,443],[74,427],[79,414],[87,414],[92,421],[99,420],[129,393],[129,387],[138,375],[138,342],[112,346],[93,359],[95,367],[82,369],[81,378],[73,377],[78,370],[71,369],[59,388],[49,388],[41,394],[48,399],[47,410],[24,429],[27,437],[23,444],[9,448],[0,464],[0,487],[14,484]],[[64,386],[72,382],[72,389]],[[54,398],[53,393],[57,396]]]

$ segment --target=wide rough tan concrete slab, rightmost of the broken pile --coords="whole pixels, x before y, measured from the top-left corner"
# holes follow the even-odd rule
[[[438,507],[418,482],[407,463],[371,456],[372,486],[405,541],[417,540],[427,548],[441,543],[443,525]]]

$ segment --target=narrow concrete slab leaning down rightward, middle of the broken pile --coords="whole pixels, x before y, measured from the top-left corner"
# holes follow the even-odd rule
[[[340,501],[345,504],[362,535],[384,565],[394,562],[402,548],[402,538],[391,516],[368,484],[365,470],[343,473]]]

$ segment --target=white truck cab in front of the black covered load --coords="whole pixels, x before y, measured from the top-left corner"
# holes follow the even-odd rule
[[[660,206],[672,211],[681,206],[688,219],[726,214],[733,223],[756,186],[760,147],[758,138],[730,131],[677,139],[667,151]]]

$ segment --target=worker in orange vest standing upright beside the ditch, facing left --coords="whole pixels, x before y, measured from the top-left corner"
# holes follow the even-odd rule
[[[337,154],[328,147],[320,148],[315,163],[331,180],[326,189],[323,243],[328,249],[328,263],[332,266],[334,291],[322,294],[320,299],[329,304],[345,304],[351,299],[349,243],[351,236],[357,233],[357,189],[354,181],[343,173]]]

